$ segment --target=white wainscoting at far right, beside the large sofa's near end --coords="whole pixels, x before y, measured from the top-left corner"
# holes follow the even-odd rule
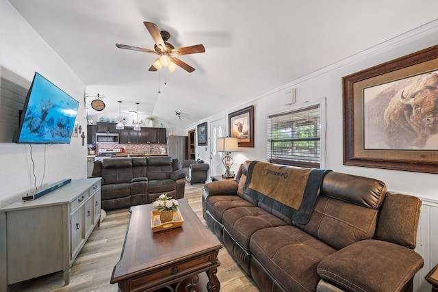
[[[424,258],[424,267],[415,275],[413,291],[430,292],[432,285],[424,279],[424,276],[438,263],[438,201],[420,199],[423,204],[415,252]]]

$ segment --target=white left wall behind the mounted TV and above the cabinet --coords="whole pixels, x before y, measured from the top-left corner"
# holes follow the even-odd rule
[[[18,83],[24,80],[21,85],[29,88],[35,71],[79,101],[76,121],[86,131],[85,85],[12,5],[0,0],[0,77],[16,77],[12,81]],[[0,107],[1,102],[2,96]],[[64,178],[86,177],[86,146],[80,137],[73,137],[70,144],[32,144],[32,150],[33,155],[29,144],[0,143],[0,207],[35,191],[34,183],[44,187]]]

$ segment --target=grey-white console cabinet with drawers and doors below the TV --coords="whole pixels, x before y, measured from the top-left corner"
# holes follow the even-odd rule
[[[101,178],[73,180],[36,200],[0,209],[0,291],[9,284],[64,271],[99,225]]]

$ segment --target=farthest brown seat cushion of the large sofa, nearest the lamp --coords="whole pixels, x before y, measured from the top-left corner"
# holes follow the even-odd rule
[[[205,198],[205,209],[209,211],[211,216],[218,220],[218,222],[222,222],[222,215],[228,209],[249,206],[253,206],[253,204],[243,200],[239,196],[207,196],[207,198]]]

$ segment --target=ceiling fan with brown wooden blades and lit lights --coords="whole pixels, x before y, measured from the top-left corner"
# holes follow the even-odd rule
[[[168,33],[168,31],[159,31],[155,23],[149,23],[147,21],[144,21],[143,23],[144,26],[146,26],[146,29],[148,29],[149,34],[151,34],[153,41],[155,42],[153,50],[133,47],[127,44],[116,44],[116,47],[120,49],[155,53],[159,55],[159,57],[157,57],[157,59],[155,59],[155,61],[153,62],[151,68],[149,68],[149,71],[162,70],[162,67],[168,67],[170,72],[173,72],[175,69],[178,68],[178,66],[189,73],[194,71],[194,68],[192,66],[181,61],[181,59],[177,58],[176,56],[204,53],[205,47],[203,44],[195,44],[194,46],[175,49],[175,47],[170,44],[170,42],[167,42],[167,40],[170,38],[170,34]]]

